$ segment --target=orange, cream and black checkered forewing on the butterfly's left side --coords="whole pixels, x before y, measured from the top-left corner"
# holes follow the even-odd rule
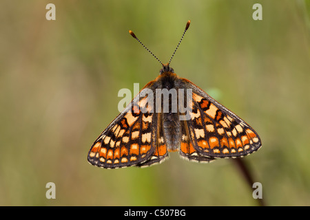
[[[158,139],[158,114],[147,105],[145,91],[142,89],[92,144],[87,157],[90,164],[118,168],[143,164],[152,158]]]

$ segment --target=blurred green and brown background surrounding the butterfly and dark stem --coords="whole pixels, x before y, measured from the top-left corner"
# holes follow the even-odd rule
[[[56,5],[56,21],[45,6]],[[262,21],[254,21],[254,3]],[[1,206],[256,206],[230,159],[171,153],[149,168],[87,162],[118,115],[118,90],[172,67],[256,129],[245,157],[269,206],[310,205],[309,1],[17,1],[0,3]],[[133,94],[136,95],[136,94]],[[46,199],[45,184],[56,184]]]

